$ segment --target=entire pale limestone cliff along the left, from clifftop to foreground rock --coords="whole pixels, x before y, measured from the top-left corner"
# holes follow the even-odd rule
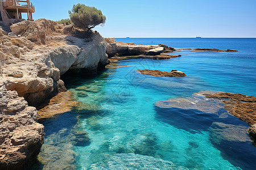
[[[39,19],[13,24],[9,36],[0,35],[0,169],[22,169],[40,151],[44,127],[28,105],[65,91],[60,75],[68,70],[91,73],[106,65],[107,44],[100,33],[75,37],[63,28]]]

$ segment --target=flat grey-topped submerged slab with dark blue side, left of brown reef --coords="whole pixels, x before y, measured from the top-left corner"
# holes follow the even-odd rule
[[[208,99],[200,93],[193,94],[193,97],[188,99],[156,101],[155,110],[156,118],[160,121],[191,133],[207,130],[213,122],[232,117],[220,101]]]

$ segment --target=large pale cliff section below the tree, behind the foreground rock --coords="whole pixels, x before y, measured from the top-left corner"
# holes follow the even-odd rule
[[[65,91],[60,75],[68,70],[96,72],[105,66],[107,44],[98,32],[80,39],[63,35],[62,25],[51,20],[23,21],[11,29],[17,36],[3,36],[0,48],[2,79],[29,105]],[[43,33],[42,33],[43,32]]]

